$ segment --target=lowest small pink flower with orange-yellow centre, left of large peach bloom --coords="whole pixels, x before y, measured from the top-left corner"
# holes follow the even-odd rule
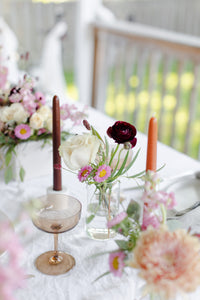
[[[118,277],[122,276],[123,268],[125,266],[124,263],[125,253],[122,251],[110,253],[109,256],[109,266],[110,271]]]

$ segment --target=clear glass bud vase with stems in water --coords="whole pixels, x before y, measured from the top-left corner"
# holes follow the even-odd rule
[[[107,240],[116,236],[113,229],[108,229],[107,222],[118,214],[120,200],[119,182],[96,189],[87,187],[86,231],[95,240]]]

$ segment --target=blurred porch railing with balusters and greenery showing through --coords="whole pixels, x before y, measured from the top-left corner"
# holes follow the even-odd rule
[[[92,105],[142,132],[156,113],[159,140],[197,158],[200,39],[128,22],[92,26]]]

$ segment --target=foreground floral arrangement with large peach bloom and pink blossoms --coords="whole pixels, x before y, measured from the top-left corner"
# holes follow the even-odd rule
[[[174,194],[156,190],[157,173],[148,171],[143,179],[142,224],[134,201],[107,224],[123,238],[116,240],[118,249],[110,253],[105,274],[121,277],[127,267],[137,269],[146,282],[143,296],[175,299],[178,293],[192,292],[200,284],[200,241],[183,229],[168,229],[166,212],[175,205]]]

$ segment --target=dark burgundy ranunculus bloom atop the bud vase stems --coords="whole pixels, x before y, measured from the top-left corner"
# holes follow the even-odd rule
[[[117,121],[115,124],[108,128],[107,135],[114,139],[118,144],[124,144],[130,142],[132,148],[137,143],[137,138],[135,137],[137,130],[135,126],[124,121]]]

